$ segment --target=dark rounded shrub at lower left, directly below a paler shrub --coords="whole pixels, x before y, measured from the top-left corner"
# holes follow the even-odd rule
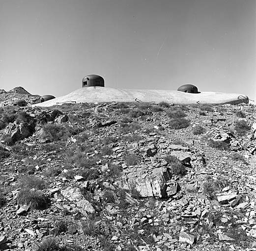
[[[30,204],[32,209],[45,209],[49,205],[48,198],[38,190],[21,190],[18,194],[17,201],[19,204]]]

